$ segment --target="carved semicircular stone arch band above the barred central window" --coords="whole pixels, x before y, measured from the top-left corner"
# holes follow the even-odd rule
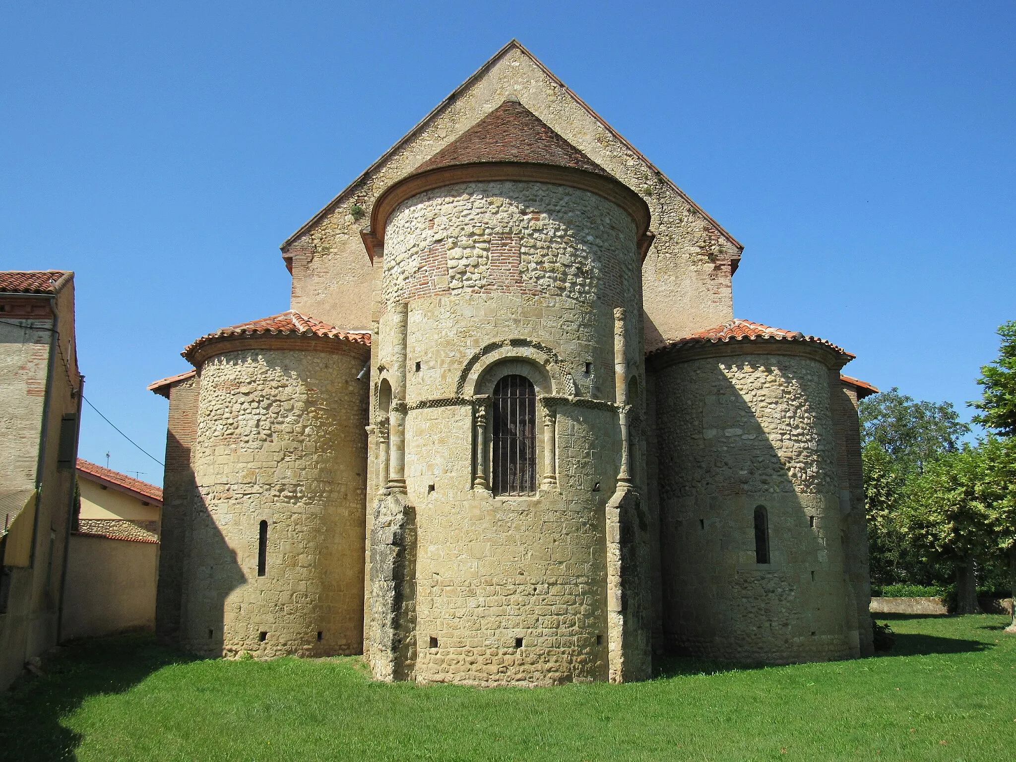
[[[564,369],[558,354],[539,341],[528,338],[494,341],[475,353],[462,367],[458,382],[455,384],[455,395],[490,394],[500,376],[490,376],[488,369],[503,361],[511,360],[518,361],[519,368],[524,365],[530,370],[499,371],[500,376],[517,372],[532,381],[532,385],[536,387],[536,394],[541,396],[575,396],[575,379]],[[533,365],[538,367],[541,372],[533,373],[531,370]]]

